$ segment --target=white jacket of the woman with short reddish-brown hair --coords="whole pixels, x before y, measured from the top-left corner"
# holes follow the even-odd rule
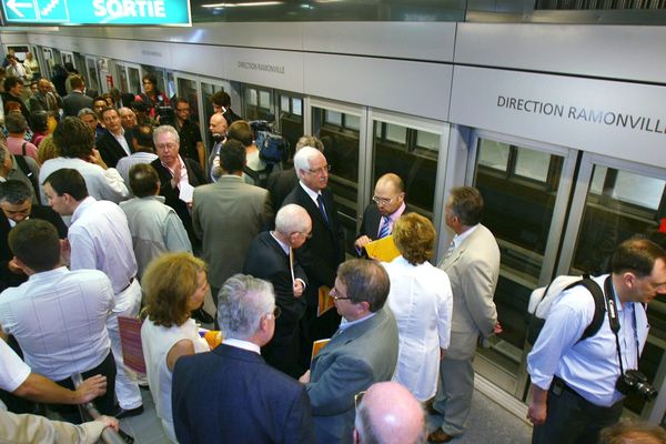
[[[393,374],[418,401],[437,391],[440,349],[448,347],[453,295],[448,275],[430,262],[403,256],[384,263],[391,279],[387,304],[397,322],[397,365]]]

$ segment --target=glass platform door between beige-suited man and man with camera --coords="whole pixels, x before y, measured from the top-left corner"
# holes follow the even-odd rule
[[[478,350],[474,365],[522,398],[527,302],[554,269],[576,151],[481,131],[475,140],[473,184],[485,202],[482,223],[502,254],[495,304],[504,332]]]

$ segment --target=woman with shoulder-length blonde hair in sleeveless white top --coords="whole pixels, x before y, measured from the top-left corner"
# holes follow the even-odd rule
[[[179,357],[208,352],[190,312],[209,291],[205,263],[190,253],[165,253],[148,266],[141,286],[148,317],[141,326],[148,385],[164,433],[176,442],[171,416],[171,377]]]

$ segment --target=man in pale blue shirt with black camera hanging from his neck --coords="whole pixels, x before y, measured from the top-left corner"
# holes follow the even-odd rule
[[[595,301],[584,286],[574,286],[553,302],[527,357],[533,444],[596,443],[599,431],[619,420],[625,395],[656,396],[637,369],[649,329],[645,304],[666,293],[666,252],[630,239],[615,250],[612,270],[593,278],[606,305],[598,332],[581,340]]]

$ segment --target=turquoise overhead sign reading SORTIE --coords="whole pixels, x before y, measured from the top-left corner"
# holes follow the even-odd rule
[[[1,0],[6,23],[191,26],[189,0]]]

